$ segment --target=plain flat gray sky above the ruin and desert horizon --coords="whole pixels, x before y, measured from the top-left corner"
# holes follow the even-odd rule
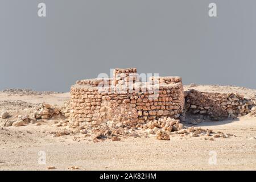
[[[255,10],[255,0],[1,0],[0,90],[67,92],[126,67],[256,89]]]

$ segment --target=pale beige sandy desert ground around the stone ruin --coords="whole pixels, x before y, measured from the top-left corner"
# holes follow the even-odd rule
[[[210,86],[196,87],[213,90]],[[196,87],[193,86],[193,89]],[[250,96],[256,93],[255,90],[245,91],[243,88],[235,90],[247,92]],[[68,96],[68,93],[46,96],[0,93],[0,101],[61,105],[68,100]],[[3,109],[2,105],[0,111]],[[81,170],[256,169],[256,118],[243,117],[197,125],[236,135],[214,140],[171,135],[171,140],[165,141],[156,140],[154,135],[150,135],[149,138],[130,137],[122,138],[119,142],[104,140],[94,143],[80,134],[52,137],[51,131],[55,128],[51,125],[49,122],[41,126],[0,127],[0,170],[47,170],[48,166],[54,166],[56,170],[68,170],[71,166]],[[45,159],[46,163],[40,159]]]

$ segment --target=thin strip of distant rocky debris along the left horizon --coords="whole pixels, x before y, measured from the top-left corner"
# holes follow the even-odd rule
[[[62,92],[52,92],[52,91],[38,92],[31,89],[5,89],[5,90],[2,90],[2,93],[18,94],[20,96],[31,96],[31,95],[36,96],[36,95],[48,95],[48,94],[55,94],[55,93],[62,93]]]

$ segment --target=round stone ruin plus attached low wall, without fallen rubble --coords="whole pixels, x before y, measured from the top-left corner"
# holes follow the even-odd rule
[[[183,92],[181,77],[152,76],[141,81],[136,68],[114,69],[112,78],[79,80],[71,86],[69,126],[100,126],[108,121],[143,127],[185,115],[222,120],[250,113],[255,105],[237,93]]]

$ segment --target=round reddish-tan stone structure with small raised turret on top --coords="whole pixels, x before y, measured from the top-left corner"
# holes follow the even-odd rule
[[[183,113],[180,77],[150,77],[142,82],[135,68],[114,69],[113,75],[80,80],[71,86],[71,127],[107,121],[138,127],[162,116],[179,118]]]

